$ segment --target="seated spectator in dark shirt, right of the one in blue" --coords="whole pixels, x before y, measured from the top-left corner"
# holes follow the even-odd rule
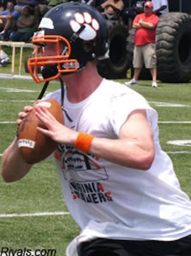
[[[17,31],[10,34],[10,41],[31,41],[37,29],[36,17],[31,15],[31,7],[23,6],[17,20]]]

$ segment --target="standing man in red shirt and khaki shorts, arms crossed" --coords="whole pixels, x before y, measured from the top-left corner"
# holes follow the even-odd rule
[[[155,29],[159,23],[159,17],[153,13],[153,3],[146,1],[144,4],[144,13],[137,15],[132,27],[136,29],[134,36],[134,76],[127,86],[137,85],[139,73],[145,63],[152,74],[152,87],[157,87],[157,57],[155,54]]]

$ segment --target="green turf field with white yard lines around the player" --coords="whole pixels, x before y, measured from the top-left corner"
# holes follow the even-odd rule
[[[32,80],[6,79],[0,84],[3,153],[15,136],[17,113],[36,100],[41,85]],[[58,88],[59,84],[52,82],[48,91]],[[132,89],[143,94],[158,111],[162,148],[171,156],[181,186],[191,197],[191,84],[159,83],[159,87],[152,88],[150,81],[141,81]],[[181,143],[169,144],[174,140]],[[24,256],[22,250],[28,249],[42,250],[38,255],[64,256],[67,244],[80,230],[67,214],[53,161],[36,164],[16,183],[6,184],[0,178],[0,191],[0,253],[10,256],[11,250],[17,250],[17,255]]]

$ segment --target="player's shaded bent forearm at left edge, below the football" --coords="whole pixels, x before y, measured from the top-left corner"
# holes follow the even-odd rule
[[[1,175],[6,182],[17,181],[29,172],[31,165],[24,162],[17,146],[17,139],[4,151]]]

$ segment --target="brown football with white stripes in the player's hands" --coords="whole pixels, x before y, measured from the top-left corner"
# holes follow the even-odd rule
[[[42,100],[37,105],[46,107],[57,121],[64,124],[62,107],[56,100]],[[39,121],[35,112],[35,109],[29,112],[18,126],[18,148],[22,158],[30,164],[41,162],[57,147],[56,142],[36,129],[38,126],[41,128],[46,126]]]

